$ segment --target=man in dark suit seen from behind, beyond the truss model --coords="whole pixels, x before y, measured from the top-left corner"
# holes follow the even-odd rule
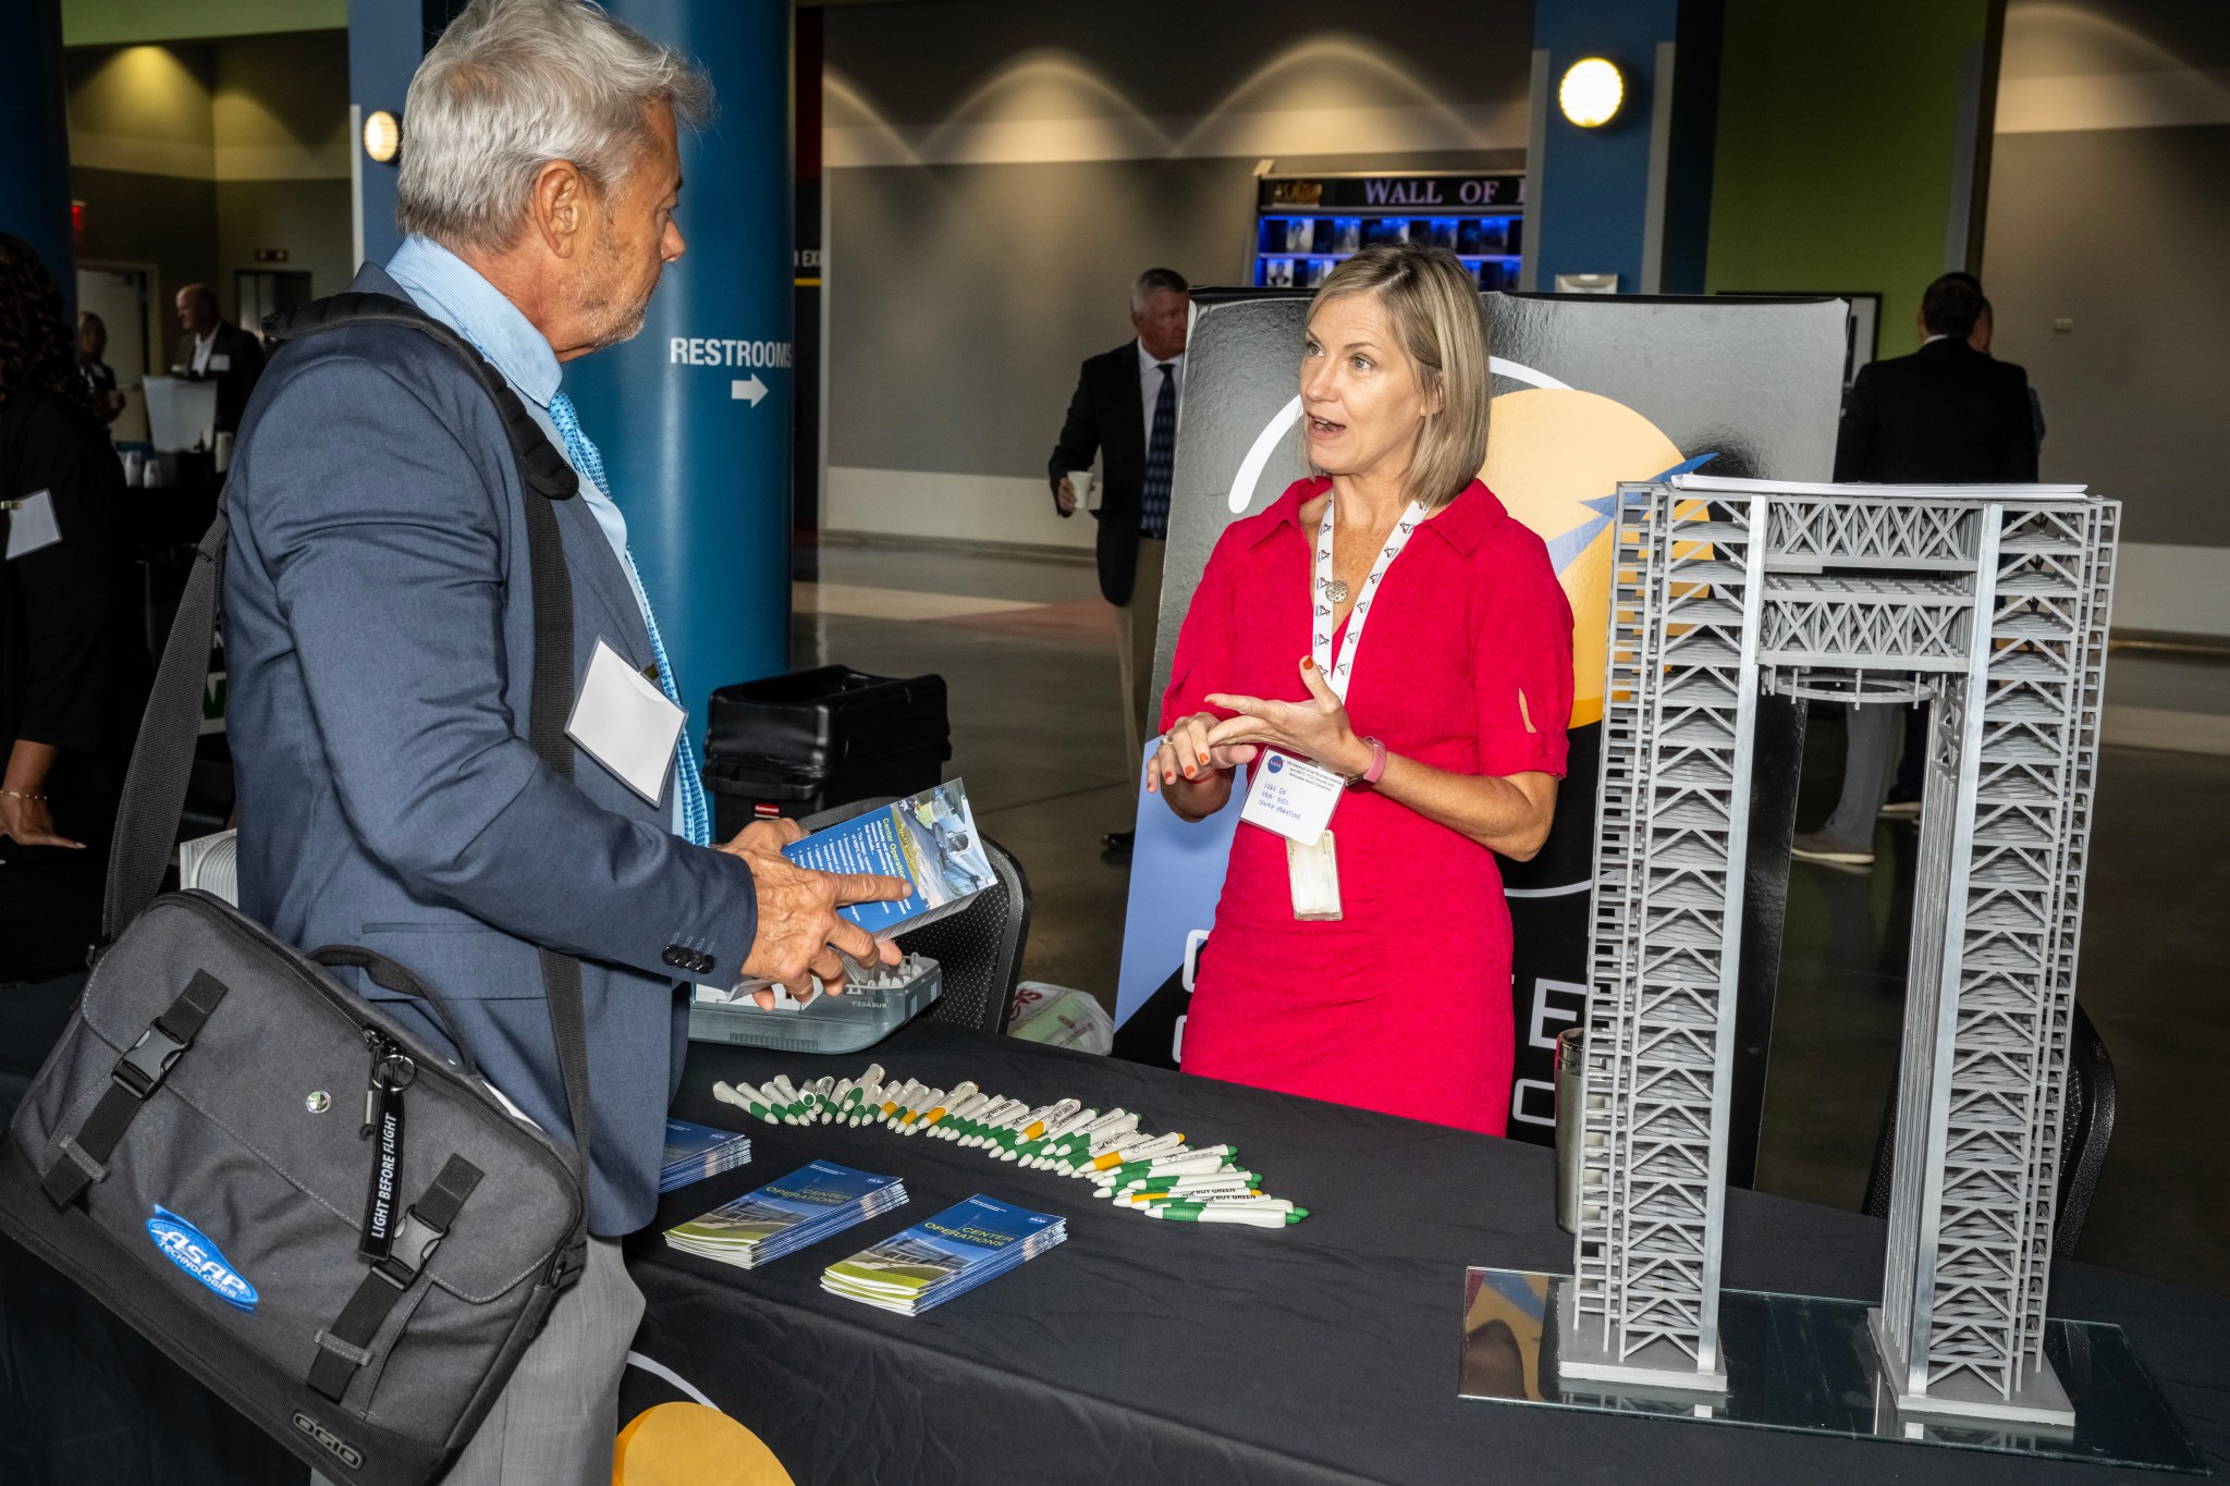
[[[2027,374],[1971,345],[1987,312],[1974,274],[1945,274],[1920,299],[1920,350],[1860,368],[1835,439],[1835,479],[1882,483],[2027,483],[2036,479],[2036,412]],[[1884,813],[1898,753],[1898,720],[1927,726],[1927,711],[1873,702],[1851,708],[1842,800],[1791,856],[1835,867],[1873,864],[1873,822]],[[1918,795],[1896,813],[1918,815]]]

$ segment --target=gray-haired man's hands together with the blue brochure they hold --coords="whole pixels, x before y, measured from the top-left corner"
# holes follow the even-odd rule
[[[789,820],[754,822],[720,849],[752,860],[763,925],[769,920],[769,893],[807,893],[812,902],[805,907],[818,909],[785,913],[780,922],[796,929],[769,938],[765,954],[754,954],[743,967],[736,994],[752,991],[763,1009],[783,1000],[809,1003],[812,982],[827,994],[841,991],[845,967],[836,949],[861,965],[894,965],[899,954],[888,936],[961,909],[997,880],[961,780],[812,835]],[[827,913],[843,922],[830,927]],[[825,938],[816,940],[823,929]],[[787,996],[772,987],[783,987]]]

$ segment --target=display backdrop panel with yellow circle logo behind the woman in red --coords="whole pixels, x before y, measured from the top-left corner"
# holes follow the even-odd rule
[[[1617,486],[1706,454],[1713,475],[1826,479],[1835,463],[1849,310],[1838,299],[1483,294],[1481,301],[1494,354],[1481,475],[1548,544],[1574,624],[1572,757],[1557,822],[1532,862],[1503,862],[1514,931],[1510,1134],[1548,1141],[1557,1032],[1579,1020],[1588,991],[1588,887]],[[1298,430],[1307,310],[1302,292],[1193,294],[1155,644],[1157,688],[1169,682],[1177,630],[1218,537],[1307,475]],[[1777,775],[1762,771],[1759,793],[1768,798],[1753,804],[1753,815],[1793,818],[1795,753]],[[1140,806],[1115,1052],[1169,1065],[1182,1052],[1189,962],[1213,929],[1224,844],[1238,811],[1186,827],[1157,795],[1142,791]],[[1755,873],[1751,882],[1771,954],[1753,938],[1744,962],[1757,967],[1751,976],[1762,978],[1757,989],[1766,1007],[1780,962],[1786,856],[1780,860],[1775,882],[1759,882]],[[1753,998],[1748,985],[1744,996]],[[1768,1032],[1771,1020],[1746,1038],[1759,1083]]]

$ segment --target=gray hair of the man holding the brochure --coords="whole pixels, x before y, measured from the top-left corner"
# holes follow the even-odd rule
[[[711,120],[711,78],[589,0],[473,0],[410,78],[395,223],[444,247],[511,247],[551,160],[600,194],[649,151],[653,102]]]

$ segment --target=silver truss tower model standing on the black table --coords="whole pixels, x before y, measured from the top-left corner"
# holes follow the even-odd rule
[[[1621,488],[1565,1377],[1726,1386],[1757,695],[1924,697],[1875,1352],[1907,1412],[2072,1424],[2043,1321],[2118,515],[2069,486]]]

